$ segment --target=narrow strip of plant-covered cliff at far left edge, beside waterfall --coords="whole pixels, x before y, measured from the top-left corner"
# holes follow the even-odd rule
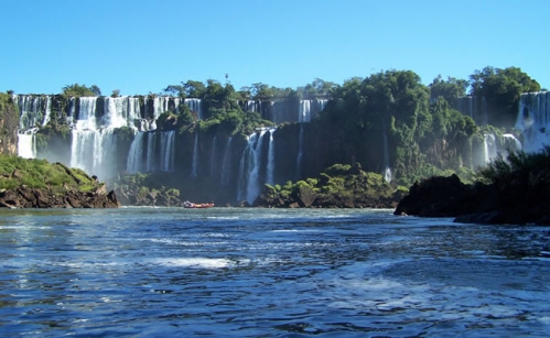
[[[18,153],[19,110],[12,97],[0,92],[0,154]]]

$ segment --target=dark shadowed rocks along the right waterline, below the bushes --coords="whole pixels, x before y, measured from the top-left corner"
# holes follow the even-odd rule
[[[530,182],[516,177],[488,185],[466,185],[456,175],[431,177],[411,186],[395,215],[453,217],[465,223],[548,225],[550,173],[529,177]]]

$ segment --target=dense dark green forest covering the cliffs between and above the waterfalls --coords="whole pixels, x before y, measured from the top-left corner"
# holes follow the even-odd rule
[[[537,80],[518,67],[502,69],[487,66],[475,70],[468,79],[438,76],[428,86],[411,70],[385,70],[365,78],[349,78],[342,85],[314,79],[295,89],[258,83],[236,90],[226,77],[224,84],[208,79],[205,83],[186,80],[168,85],[158,94],[150,92],[139,98],[140,105],[144,107],[142,113],[147,113],[148,99],[152,97],[168,96],[181,99],[180,102],[185,98],[201,99],[201,112],[183,103],[163,111],[154,121],[155,132],[176,131],[185,144],[192,144],[197,134],[209,140],[205,143],[211,144],[214,142],[212,139],[236,138],[242,148],[248,135],[259,128],[278,124],[269,116],[266,106],[259,105],[259,108],[250,110],[245,108],[247,102],[283,102],[287,103],[284,107],[289,115],[298,116],[301,100],[324,99],[324,109],[309,123],[285,122],[277,126],[279,140],[282,140],[278,141],[279,153],[288,152],[296,157],[298,142],[303,142],[309,151],[303,154],[305,165],[298,175],[279,175],[276,181],[305,182],[305,178],[317,177],[334,164],[359,164],[366,172],[380,174],[391,168],[391,182],[408,186],[420,178],[441,173],[452,172],[467,177],[479,165],[475,152],[482,148],[486,133],[495,134],[500,142],[504,142],[504,133],[521,138],[514,129],[520,95],[540,90]],[[10,152],[9,145],[13,153],[13,121],[19,120],[19,117],[14,119],[19,111],[11,100],[12,95],[8,92],[0,96],[0,135],[4,153]],[[110,95],[111,98],[119,96],[120,90],[114,90]],[[459,111],[459,101],[467,96],[484,98],[483,118]],[[52,97],[55,103],[50,107],[50,120],[45,126],[36,126],[39,153],[40,150],[52,153],[64,146],[63,140],[69,137],[72,128],[67,122],[71,121],[67,119],[69,110],[74,109],[69,108],[72,99],[107,98],[101,96],[98,86],[78,84],[67,85],[61,94]],[[77,110],[74,113],[78,113]],[[295,135],[302,132],[303,140],[298,140]],[[127,144],[121,148],[129,149],[136,131],[121,127],[116,133],[121,140],[127,140]],[[285,143],[284,140],[292,141]],[[181,150],[176,156],[190,157],[188,154],[183,156],[188,151]],[[120,161],[126,162],[126,159]],[[287,168],[285,172],[294,171],[293,164],[285,164],[284,161],[279,161],[278,165],[282,170]],[[175,172],[174,175],[181,177],[181,173],[177,170]],[[185,189],[181,179],[176,184],[174,182],[177,179],[169,179],[166,174],[159,176],[163,176],[164,183],[158,186],[151,184],[152,188],[175,185],[179,189]],[[193,178],[194,183],[185,184],[217,188],[206,178]],[[125,179],[128,182],[127,177]]]

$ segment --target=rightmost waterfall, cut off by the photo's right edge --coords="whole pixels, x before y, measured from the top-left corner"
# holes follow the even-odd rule
[[[516,129],[522,134],[526,152],[550,145],[550,91],[521,94]]]

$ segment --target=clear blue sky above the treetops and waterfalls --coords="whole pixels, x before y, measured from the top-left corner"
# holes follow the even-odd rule
[[[0,0],[0,90],[160,92],[338,85],[389,69],[430,84],[520,67],[550,89],[550,0]]]

